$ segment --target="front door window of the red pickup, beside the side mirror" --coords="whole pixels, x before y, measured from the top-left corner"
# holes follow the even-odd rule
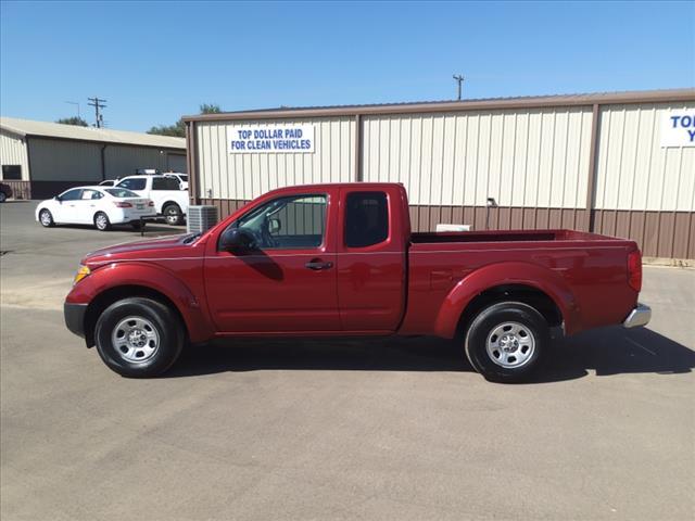
[[[260,206],[232,226],[250,231],[264,250],[319,247],[326,233],[324,194],[291,195]]]

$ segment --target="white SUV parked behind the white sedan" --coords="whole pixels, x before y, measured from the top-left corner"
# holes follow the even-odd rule
[[[132,190],[154,202],[157,215],[169,225],[182,225],[188,213],[188,190],[179,188],[178,180],[167,176],[128,176],[116,185]]]

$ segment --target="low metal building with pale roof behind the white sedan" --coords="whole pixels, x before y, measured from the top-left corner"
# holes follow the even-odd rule
[[[136,168],[187,171],[182,138],[0,118],[2,182],[23,199],[46,199]]]

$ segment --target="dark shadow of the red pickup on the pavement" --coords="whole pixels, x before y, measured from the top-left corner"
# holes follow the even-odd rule
[[[531,383],[589,374],[674,374],[695,368],[695,352],[645,328],[604,328],[556,341]],[[375,340],[226,340],[184,351],[164,378],[227,371],[468,371],[463,346],[435,338]]]

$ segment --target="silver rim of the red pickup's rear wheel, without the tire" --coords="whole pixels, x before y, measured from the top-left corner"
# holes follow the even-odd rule
[[[504,322],[493,328],[485,344],[488,356],[500,367],[516,369],[527,364],[535,351],[535,339],[526,326]]]

